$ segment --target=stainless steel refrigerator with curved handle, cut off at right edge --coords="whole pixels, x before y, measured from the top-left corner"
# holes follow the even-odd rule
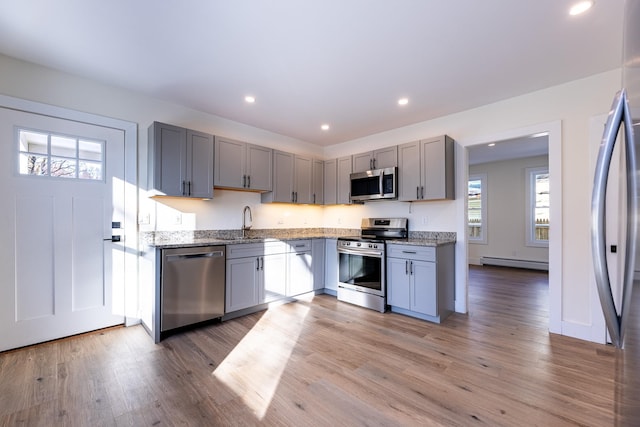
[[[638,240],[638,191],[640,190],[640,0],[626,0],[623,23],[622,89],[614,97],[596,162],[591,204],[591,242],[602,312],[611,343],[616,351],[614,411],[616,425],[640,425],[640,273],[636,262]],[[623,261],[607,265],[606,193],[614,147],[626,176],[622,185],[624,213],[616,210],[609,216],[623,218],[624,246],[619,250]],[[621,274],[610,276],[610,268]],[[610,281],[610,277],[618,277]]]

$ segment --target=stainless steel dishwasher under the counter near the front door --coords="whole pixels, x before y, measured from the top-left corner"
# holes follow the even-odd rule
[[[162,250],[160,331],[224,315],[225,247]]]

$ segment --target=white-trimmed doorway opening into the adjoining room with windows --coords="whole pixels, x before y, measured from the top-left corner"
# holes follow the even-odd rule
[[[465,144],[467,199],[458,229],[465,236],[466,262],[459,267],[467,303],[473,303],[470,265],[548,270],[545,317],[554,333],[561,332],[562,307],[560,141],[561,123],[552,122]]]

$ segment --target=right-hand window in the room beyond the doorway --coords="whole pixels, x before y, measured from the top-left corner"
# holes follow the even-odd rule
[[[549,246],[549,168],[527,168],[527,246]]]

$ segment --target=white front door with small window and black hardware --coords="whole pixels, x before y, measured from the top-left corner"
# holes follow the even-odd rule
[[[0,351],[122,324],[123,131],[0,108],[0,164]]]

